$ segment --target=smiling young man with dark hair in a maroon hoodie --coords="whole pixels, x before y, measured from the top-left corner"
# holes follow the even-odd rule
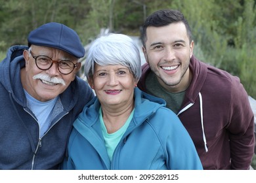
[[[138,86],[176,112],[203,169],[249,169],[254,116],[239,78],[193,56],[190,27],[177,10],[148,16],[142,44],[147,63]]]

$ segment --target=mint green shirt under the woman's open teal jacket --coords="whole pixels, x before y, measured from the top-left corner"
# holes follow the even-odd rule
[[[102,118],[102,111],[101,111],[101,107],[100,107],[100,110],[99,110],[100,127],[102,130],[106,150],[108,152],[108,157],[110,158],[110,161],[112,160],[112,156],[114,154],[114,150],[116,149],[117,144],[119,143],[121,137],[123,136],[123,133],[125,133],[127,127],[129,126],[129,124],[131,122],[131,119],[133,118],[133,112],[134,112],[134,109],[131,112],[131,114],[130,114],[129,118],[127,119],[127,121],[125,122],[125,124],[120,129],[118,129],[114,133],[108,133],[106,126],[104,124],[103,118]]]

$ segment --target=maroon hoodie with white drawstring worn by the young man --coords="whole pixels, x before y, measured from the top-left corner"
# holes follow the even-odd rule
[[[188,130],[203,169],[249,169],[254,154],[254,116],[240,79],[190,59],[192,81],[178,116]],[[138,87],[146,91],[150,73],[142,65]]]

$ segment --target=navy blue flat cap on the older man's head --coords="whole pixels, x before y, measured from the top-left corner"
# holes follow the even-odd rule
[[[41,25],[31,31],[28,35],[28,44],[58,48],[76,58],[85,56],[85,48],[77,33],[70,27],[56,22]]]

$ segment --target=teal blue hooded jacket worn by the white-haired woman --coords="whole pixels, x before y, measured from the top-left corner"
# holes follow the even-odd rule
[[[74,122],[63,169],[202,169],[196,148],[163,99],[135,88],[135,112],[114,151],[104,144],[95,97]]]

